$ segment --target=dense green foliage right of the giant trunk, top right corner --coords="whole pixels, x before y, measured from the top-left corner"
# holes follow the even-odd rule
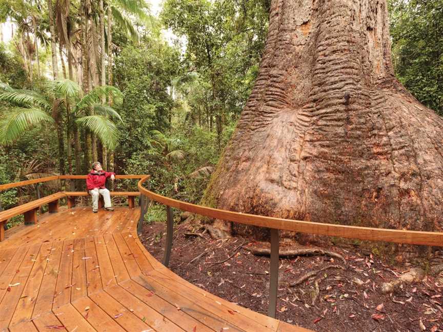
[[[443,116],[443,6],[441,1],[390,0],[395,73],[425,106]]]

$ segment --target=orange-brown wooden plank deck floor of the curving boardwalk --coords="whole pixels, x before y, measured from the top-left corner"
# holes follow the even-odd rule
[[[297,331],[178,277],[138,240],[139,209],[44,215],[0,242],[0,331]]]

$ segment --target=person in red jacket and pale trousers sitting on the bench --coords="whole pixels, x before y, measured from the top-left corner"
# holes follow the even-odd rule
[[[111,195],[105,186],[106,179],[109,177],[114,181],[115,173],[103,171],[102,165],[98,161],[92,164],[92,170],[86,178],[86,187],[92,196],[93,213],[98,212],[98,197],[100,195],[103,196],[103,200],[105,201],[105,210],[114,211],[114,208],[111,206]]]

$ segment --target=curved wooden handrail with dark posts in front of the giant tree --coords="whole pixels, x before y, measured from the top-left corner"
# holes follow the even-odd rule
[[[167,206],[168,226],[166,248],[163,263],[169,264],[169,257],[172,248],[172,232],[173,232],[173,210],[188,211],[205,217],[233,221],[241,224],[266,227],[271,233],[271,267],[270,267],[270,289],[269,289],[269,308],[268,315],[275,318],[277,286],[278,286],[278,251],[279,251],[279,230],[293,231],[314,235],[336,236],[350,239],[368,240],[368,241],[386,241],[404,244],[419,244],[430,246],[443,246],[443,233],[437,232],[420,232],[406,230],[389,230],[377,229],[371,227],[348,226],[339,224],[317,223],[310,221],[291,220],[282,218],[273,218],[266,216],[258,216],[233,211],[219,210],[201,206],[192,203],[179,201],[158,195],[149,190],[149,176],[138,181],[138,190],[140,199],[142,199],[142,217],[146,212],[146,198],[162,203]],[[147,183],[147,188],[144,184]]]

